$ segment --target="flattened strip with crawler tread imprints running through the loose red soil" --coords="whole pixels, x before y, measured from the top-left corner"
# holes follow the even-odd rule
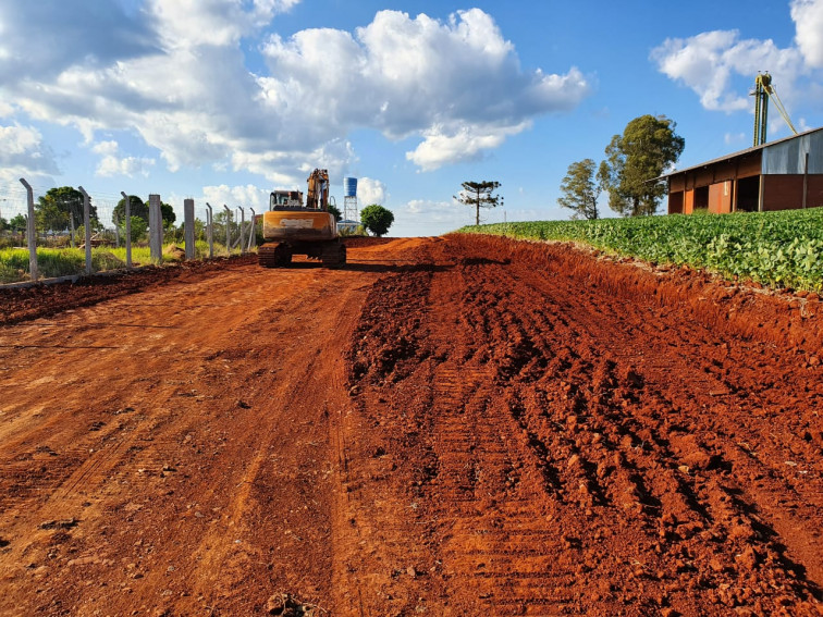
[[[546,555],[535,550],[536,542],[556,541],[549,508],[552,501],[545,498],[545,489],[556,474],[545,467],[542,473],[535,472],[539,454],[532,449],[533,435],[529,439],[532,447],[512,440],[520,430],[515,417],[503,417],[501,423],[489,405],[500,395],[495,369],[501,365],[492,360],[499,349],[487,342],[500,317],[501,298],[475,292],[475,271],[481,263],[471,262],[459,273],[465,293],[455,293],[455,285],[437,279],[430,287],[429,301],[442,316],[459,316],[454,323],[432,324],[428,333],[432,357],[439,362],[431,410],[439,473],[430,479],[431,498],[457,502],[438,560],[469,565],[467,580],[446,592],[451,602],[467,606],[467,599],[474,597],[487,610],[516,613],[525,603],[540,606],[567,601],[563,579],[574,575],[574,569],[550,569]],[[519,330],[516,320],[507,325],[513,333]],[[455,337],[460,328],[469,329],[471,336]],[[437,375],[443,372],[454,374],[450,382],[459,385],[438,392]]]

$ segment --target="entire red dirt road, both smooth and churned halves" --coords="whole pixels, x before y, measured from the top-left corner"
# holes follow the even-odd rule
[[[0,295],[0,615],[823,614],[816,297],[349,260]]]

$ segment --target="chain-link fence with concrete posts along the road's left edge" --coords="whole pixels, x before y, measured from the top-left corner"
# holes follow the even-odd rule
[[[260,240],[251,208],[125,196],[0,183],[0,284],[244,254]]]

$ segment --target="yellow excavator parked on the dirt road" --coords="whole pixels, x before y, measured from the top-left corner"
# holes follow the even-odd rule
[[[265,244],[257,249],[263,268],[288,266],[293,255],[319,259],[327,268],[346,263],[346,246],[337,222],[329,212],[329,172],[315,170],[308,177],[306,205],[299,190],[275,190],[262,214]]]

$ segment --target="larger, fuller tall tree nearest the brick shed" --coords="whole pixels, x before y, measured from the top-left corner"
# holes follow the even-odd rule
[[[686,140],[674,120],[641,115],[615,135],[605,149],[598,178],[609,190],[609,207],[623,217],[654,214],[666,188],[651,182],[680,158]]]

